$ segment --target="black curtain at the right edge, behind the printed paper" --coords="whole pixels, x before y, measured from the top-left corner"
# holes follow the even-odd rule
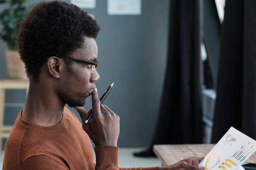
[[[255,7],[255,0],[226,0],[212,143],[230,126],[256,139]]]

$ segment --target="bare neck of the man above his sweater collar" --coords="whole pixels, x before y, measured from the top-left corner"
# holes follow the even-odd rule
[[[40,126],[54,126],[63,116],[65,104],[58,101],[49,84],[29,82],[22,119]]]

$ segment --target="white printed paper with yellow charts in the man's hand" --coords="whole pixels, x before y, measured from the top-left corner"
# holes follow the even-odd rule
[[[256,150],[256,141],[231,127],[198,166],[205,170],[236,170]]]

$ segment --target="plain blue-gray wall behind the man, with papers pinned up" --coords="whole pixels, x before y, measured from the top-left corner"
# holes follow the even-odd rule
[[[96,40],[100,61],[97,71],[101,77],[96,83],[98,92],[101,95],[115,82],[104,104],[121,119],[118,146],[146,147],[154,134],[162,96],[170,2],[142,0],[141,15],[108,15],[107,1],[96,2],[95,9],[85,10],[93,14],[101,25]],[[1,77],[7,76],[4,49],[6,45],[0,41]],[[24,95],[24,91],[14,90],[9,91],[7,97],[12,99],[16,96],[21,100],[18,102],[24,102]],[[6,107],[5,122],[14,122],[13,117],[20,107],[17,106],[16,110]],[[88,99],[85,109],[90,107],[91,100]],[[71,110],[76,113],[73,108]]]

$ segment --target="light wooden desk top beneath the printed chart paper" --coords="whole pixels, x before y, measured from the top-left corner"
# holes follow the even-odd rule
[[[205,157],[215,144],[154,145],[153,151],[163,166],[189,157]],[[246,162],[256,163],[256,152]]]

